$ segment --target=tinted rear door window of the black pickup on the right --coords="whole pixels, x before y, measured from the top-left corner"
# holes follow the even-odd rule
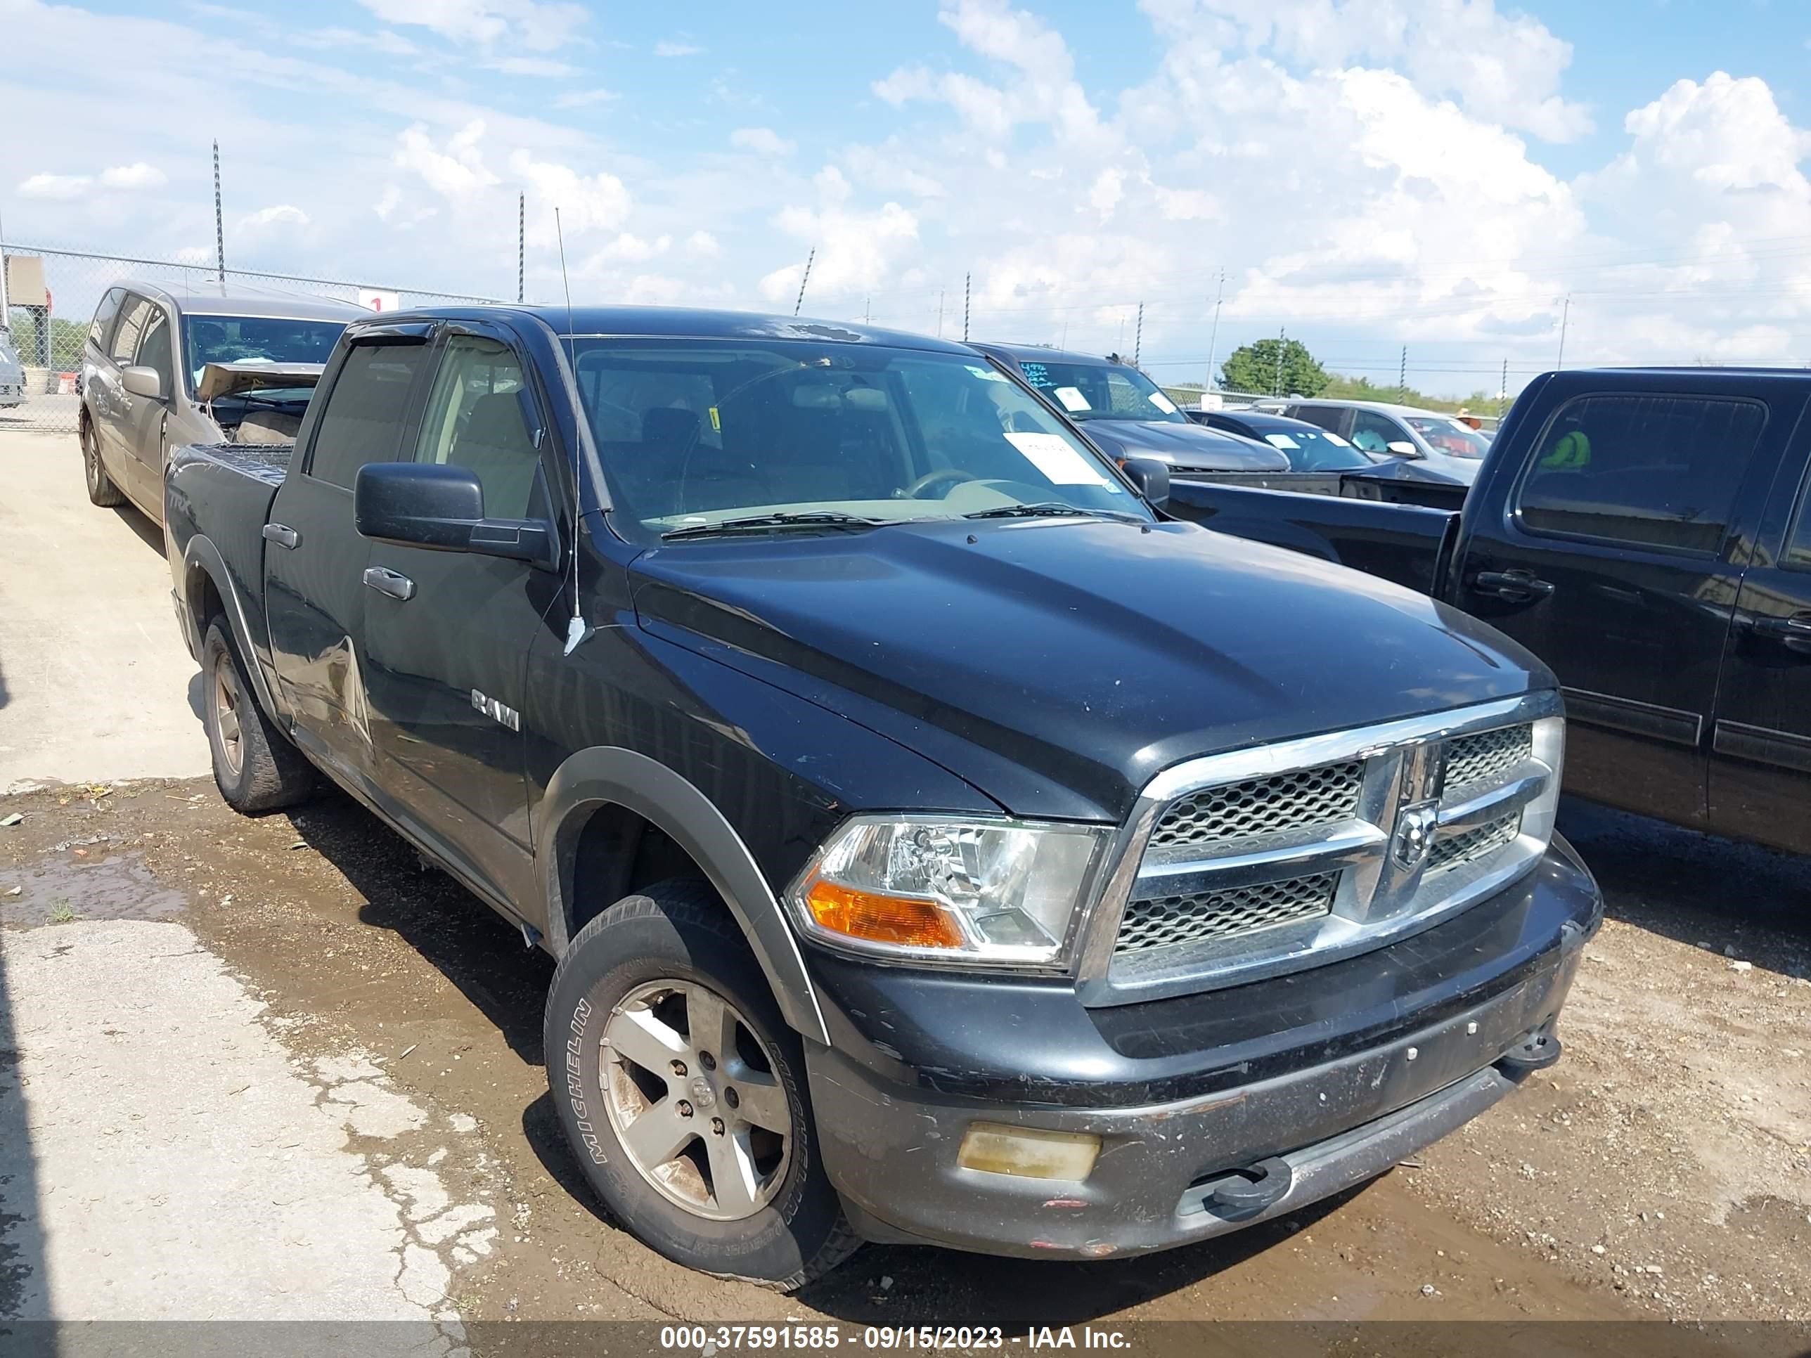
[[[1766,422],[1760,402],[1726,397],[1568,400],[1523,474],[1521,525],[1711,556]]]

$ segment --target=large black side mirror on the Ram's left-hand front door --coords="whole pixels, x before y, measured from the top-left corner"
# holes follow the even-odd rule
[[[484,485],[464,467],[368,462],[351,505],[359,536],[373,541],[556,565],[552,529],[540,520],[485,518]]]

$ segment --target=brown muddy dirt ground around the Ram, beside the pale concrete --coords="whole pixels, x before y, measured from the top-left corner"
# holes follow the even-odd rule
[[[181,922],[299,1063],[371,1054],[458,1128],[436,1162],[496,1208],[449,1309],[485,1320],[1811,1318],[1811,865],[1568,808],[1610,920],[1567,1059],[1391,1175],[1166,1255],[1056,1264],[867,1248],[782,1298],[605,1217],[541,1068],[551,960],[335,793],[246,820],[208,780],[0,799],[0,927]]]

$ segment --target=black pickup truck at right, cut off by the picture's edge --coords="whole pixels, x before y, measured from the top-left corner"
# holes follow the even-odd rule
[[[1469,494],[1273,478],[1172,511],[1516,637],[1563,684],[1568,791],[1811,853],[1807,402],[1795,369],[1548,373]]]

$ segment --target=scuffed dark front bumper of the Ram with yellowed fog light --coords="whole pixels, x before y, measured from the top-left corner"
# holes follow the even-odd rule
[[[837,1045],[808,1057],[824,1164],[873,1240],[1099,1258],[1268,1220],[1382,1173],[1509,1094],[1527,1070],[1516,1052],[1554,1032],[1601,911],[1590,875],[1556,840],[1534,873],[1456,920],[1318,976],[1213,992],[1203,998],[1219,1010],[1208,1019],[1190,1019],[1195,998],[1087,1012],[1103,1050],[1072,1054],[1070,1079],[1036,1068],[1049,1047],[1034,1034],[1054,1027],[1038,1003],[1009,1001],[1020,1014],[1001,1023],[940,998],[944,1023],[971,1028],[971,1047],[994,1048],[998,1072],[902,1059],[909,1009],[838,1009]],[[1079,1009],[1072,996],[1068,1005]],[[1166,1027],[1166,1005],[1172,1016],[1184,1007],[1181,1023]],[[1255,1025],[1244,1038],[1226,1027],[1239,1007]],[[842,1023],[862,1021],[891,1041],[869,1050],[844,1041],[855,1032]],[[1188,1059],[1181,1048],[1192,1038],[1213,1047]],[[1228,1054],[1242,1059],[1228,1065]],[[1081,1074],[1088,1068],[1105,1079]],[[1135,1106],[1112,1097],[1190,1085],[1186,1097]],[[1099,1159],[1081,1182],[967,1170],[956,1155],[974,1121],[1094,1133]],[[1241,1172],[1259,1164],[1286,1191],[1217,1199],[1250,1188]],[[1231,1197],[1246,1202],[1224,1206]]]

